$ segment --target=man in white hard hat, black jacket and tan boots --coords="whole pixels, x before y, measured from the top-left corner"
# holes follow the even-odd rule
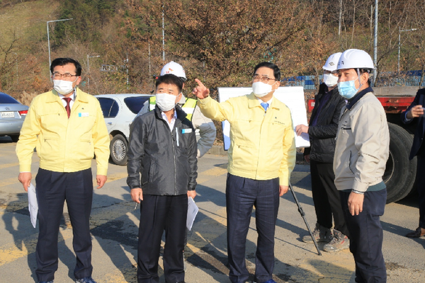
[[[317,217],[313,237],[317,242],[326,243],[323,250],[327,252],[345,250],[350,245],[332,168],[339,115],[346,104],[336,86],[338,83],[336,65],[341,54],[341,52],[331,54],[323,66],[324,82],[320,84],[319,93],[314,98],[314,109],[309,125],[297,125],[295,128],[298,136],[307,133],[310,137],[310,147],[304,149],[304,158],[310,162],[312,195]],[[333,231],[331,231],[332,216]],[[310,235],[303,236],[302,241],[313,243]]]

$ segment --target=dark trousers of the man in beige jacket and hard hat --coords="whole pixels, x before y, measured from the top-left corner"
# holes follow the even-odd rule
[[[365,192],[363,212],[352,216],[348,211],[350,192],[341,193],[341,206],[350,231],[350,251],[356,262],[356,282],[387,282],[382,255],[383,232],[380,216],[384,214],[387,190]]]

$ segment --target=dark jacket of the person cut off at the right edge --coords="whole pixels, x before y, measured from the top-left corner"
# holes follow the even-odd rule
[[[406,114],[416,105],[422,105],[422,107],[425,107],[425,88],[419,89],[412,104],[407,108],[407,110],[402,112],[402,122],[404,122],[404,124],[409,124],[414,120],[406,120]],[[419,149],[421,149],[422,142],[424,141],[425,117],[420,116],[417,118],[417,120],[418,125],[416,127],[416,132],[414,133],[412,149],[410,149],[409,154],[409,160],[412,160],[414,156],[419,154]]]

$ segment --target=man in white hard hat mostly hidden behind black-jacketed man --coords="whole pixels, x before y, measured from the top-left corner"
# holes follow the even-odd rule
[[[165,64],[161,70],[160,76],[164,76],[165,74],[174,74],[175,76],[178,76],[180,79],[182,79],[184,88],[184,82],[187,79],[186,73],[183,67],[181,67],[181,64],[178,64],[174,61]],[[214,122],[212,122],[212,120],[208,119],[202,114],[202,112],[200,112],[199,108],[196,107],[196,102],[196,99],[186,98],[182,94],[181,100],[179,101],[179,105],[181,106],[181,109],[186,112],[186,117],[188,118],[188,120],[191,120],[193,127],[195,129],[199,129],[200,139],[198,139],[197,142],[198,157],[202,157],[212,147],[212,144],[215,140],[216,132]],[[143,105],[143,108],[137,113],[137,116],[154,110],[155,105],[156,98],[155,96],[152,96],[149,99],[149,103]]]

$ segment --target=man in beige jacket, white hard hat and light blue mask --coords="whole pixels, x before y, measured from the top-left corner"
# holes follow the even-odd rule
[[[387,282],[382,255],[382,226],[387,190],[382,181],[390,146],[384,108],[370,87],[372,58],[346,50],[338,62],[341,111],[334,156],[335,185],[350,233],[356,282]]]

